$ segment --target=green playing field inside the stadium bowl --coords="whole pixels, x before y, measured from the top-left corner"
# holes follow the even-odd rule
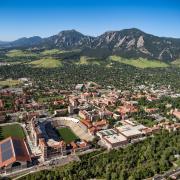
[[[59,128],[57,129],[59,136],[66,142],[66,143],[70,143],[72,141],[75,141],[77,139],[79,139],[70,128]]]

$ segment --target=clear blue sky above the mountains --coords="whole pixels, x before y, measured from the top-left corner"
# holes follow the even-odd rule
[[[0,0],[0,40],[138,28],[180,38],[180,0]]]

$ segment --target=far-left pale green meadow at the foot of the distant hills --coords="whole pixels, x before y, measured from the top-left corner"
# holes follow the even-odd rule
[[[8,53],[6,54],[6,56],[8,57],[36,57],[37,54],[35,53],[31,53],[29,51],[22,51],[22,50],[11,50],[8,51]]]

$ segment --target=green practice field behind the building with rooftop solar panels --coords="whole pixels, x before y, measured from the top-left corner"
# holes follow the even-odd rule
[[[0,126],[0,140],[3,140],[9,136],[25,138],[24,131],[19,124]]]

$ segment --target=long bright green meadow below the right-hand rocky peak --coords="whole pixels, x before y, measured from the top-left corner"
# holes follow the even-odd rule
[[[111,61],[116,61],[123,64],[135,66],[137,68],[157,68],[157,67],[168,67],[169,65],[157,60],[148,60],[144,58],[139,59],[124,59],[119,56],[110,56]]]

